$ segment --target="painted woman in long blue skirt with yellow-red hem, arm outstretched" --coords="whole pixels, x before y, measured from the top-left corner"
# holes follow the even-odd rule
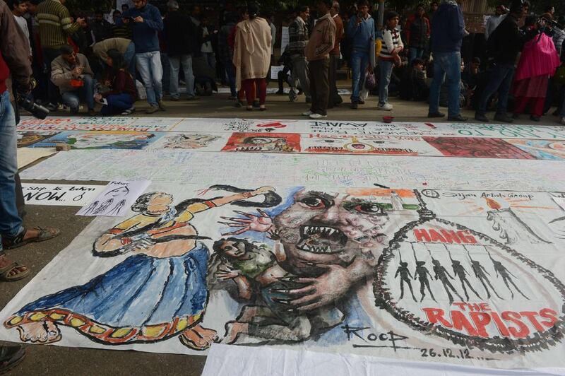
[[[241,191],[241,190],[239,190]],[[95,241],[98,257],[132,255],[83,286],[74,286],[25,305],[4,325],[17,327],[21,341],[52,343],[58,325],[73,327],[105,344],[151,343],[179,336],[196,350],[208,348],[215,331],[199,324],[206,310],[208,249],[191,224],[196,213],[273,188],[210,200],[189,199],[172,207],[172,196],[143,194],[131,207],[138,212]]]

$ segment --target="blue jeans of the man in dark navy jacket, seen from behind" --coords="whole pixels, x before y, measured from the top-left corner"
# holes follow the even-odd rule
[[[429,112],[439,112],[439,90],[447,80],[448,116],[457,117],[460,114],[459,93],[461,83],[461,53],[434,53],[434,80],[429,88]]]

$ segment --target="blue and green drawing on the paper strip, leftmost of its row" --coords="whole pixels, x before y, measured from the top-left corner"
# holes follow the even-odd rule
[[[143,149],[160,139],[162,133],[147,131],[64,131],[34,143],[32,148],[52,148],[66,143],[71,149]]]

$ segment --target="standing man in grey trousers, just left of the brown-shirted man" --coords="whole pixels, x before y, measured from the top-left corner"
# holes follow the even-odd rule
[[[308,6],[301,6],[297,18],[288,25],[289,42],[286,52],[290,55],[292,61],[292,77],[290,82],[292,87],[288,97],[291,102],[297,100],[297,93],[294,88],[297,86],[296,81],[300,81],[300,87],[306,95],[306,102],[310,103],[312,100],[310,94],[310,78],[309,69],[306,56],[304,55],[304,48],[308,42],[308,26],[306,24],[310,16],[310,8]]]

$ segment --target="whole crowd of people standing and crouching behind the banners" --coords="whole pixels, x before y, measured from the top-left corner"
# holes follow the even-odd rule
[[[64,106],[76,114],[82,106],[94,115],[100,103],[103,115],[127,115],[136,110],[136,100],[146,98],[146,112],[153,114],[166,110],[164,98],[181,99],[183,83],[186,100],[212,95],[222,84],[237,107],[267,109],[281,28],[257,4],[228,3],[211,13],[198,5],[182,8],[176,0],[166,9],[133,0],[133,7],[124,4],[111,17],[95,11],[88,18],[71,13],[65,0],[7,3],[30,42],[39,83],[35,98],[49,110]],[[343,102],[337,85],[343,67],[350,72],[354,110],[373,93],[376,110],[393,110],[388,98],[398,96],[429,102],[432,118],[445,117],[440,107],[448,107],[448,119],[464,121],[460,109],[466,108],[487,122],[487,111],[494,109],[497,122],[512,122],[525,110],[539,120],[556,104],[554,114],[565,124],[565,69],[558,69],[565,22],[553,7],[541,16],[530,15],[529,8],[521,0],[497,6],[480,36],[482,46],[464,61],[462,45],[477,34],[466,30],[455,0],[419,4],[404,14],[386,11],[382,27],[376,6],[366,0],[344,11],[331,0],[299,6],[283,21],[289,41],[278,59],[284,66],[278,94],[285,94],[286,84],[292,102],[304,94],[310,105],[304,115],[326,117]]]

